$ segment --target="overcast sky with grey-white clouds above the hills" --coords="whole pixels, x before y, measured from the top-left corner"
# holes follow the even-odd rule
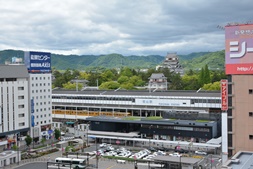
[[[252,0],[0,0],[0,50],[165,56],[224,49]]]

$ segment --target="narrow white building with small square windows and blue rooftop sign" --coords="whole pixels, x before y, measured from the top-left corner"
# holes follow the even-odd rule
[[[25,52],[25,65],[29,72],[31,136],[48,139],[51,136],[51,54]]]

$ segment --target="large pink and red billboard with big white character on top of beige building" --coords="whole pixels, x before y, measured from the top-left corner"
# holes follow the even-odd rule
[[[253,74],[253,24],[225,27],[226,74]]]

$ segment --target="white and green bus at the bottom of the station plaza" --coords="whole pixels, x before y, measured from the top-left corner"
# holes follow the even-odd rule
[[[86,168],[86,161],[84,159],[57,157],[55,162],[63,167],[70,166],[74,169]]]

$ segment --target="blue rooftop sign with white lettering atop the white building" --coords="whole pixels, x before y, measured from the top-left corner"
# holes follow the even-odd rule
[[[25,52],[24,58],[29,72],[51,72],[51,53]]]

